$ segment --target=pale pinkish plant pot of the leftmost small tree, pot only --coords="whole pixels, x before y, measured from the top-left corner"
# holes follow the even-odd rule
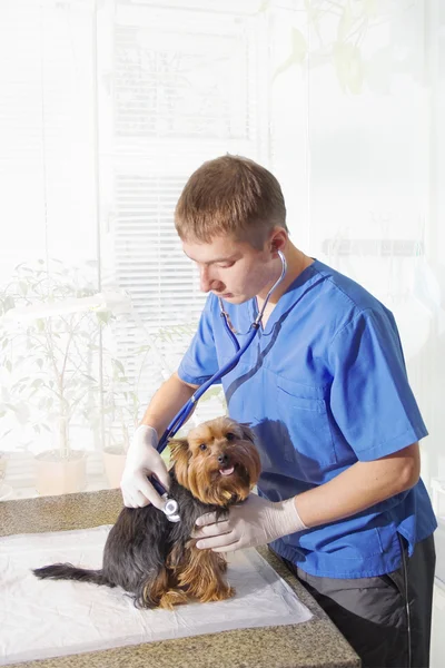
[[[61,458],[58,450],[36,455],[36,490],[42,497],[81,492],[87,487],[87,455],[82,450],[71,450]]]

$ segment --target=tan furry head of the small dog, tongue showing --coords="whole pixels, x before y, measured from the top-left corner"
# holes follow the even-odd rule
[[[243,501],[256,484],[260,460],[254,433],[230,418],[217,418],[170,441],[176,478],[202,503]]]

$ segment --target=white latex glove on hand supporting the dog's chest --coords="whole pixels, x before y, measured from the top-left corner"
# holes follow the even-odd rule
[[[307,529],[294,499],[273,503],[257,494],[249,494],[244,503],[234,505],[228,518],[216,522],[215,513],[197,519],[194,538],[196,547],[214,552],[233,552],[243,548],[265,546],[277,538]],[[205,539],[205,540],[202,540]]]

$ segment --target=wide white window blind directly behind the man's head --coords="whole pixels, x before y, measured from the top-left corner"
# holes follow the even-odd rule
[[[257,8],[119,2],[99,12],[99,145],[102,164],[111,156],[102,194],[112,238],[102,263],[131,297],[132,316],[117,325],[119,356],[147,403],[180,362],[206,298],[174,226],[181,189],[204,160],[259,157],[267,145]],[[224,410],[215,394],[201,401],[199,419]]]

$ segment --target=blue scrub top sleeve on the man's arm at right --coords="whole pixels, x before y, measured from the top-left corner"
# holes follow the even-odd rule
[[[333,416],[358,460],[379,459],[427,435],[389,312],[357,315],[334,336],[328,361]]]

